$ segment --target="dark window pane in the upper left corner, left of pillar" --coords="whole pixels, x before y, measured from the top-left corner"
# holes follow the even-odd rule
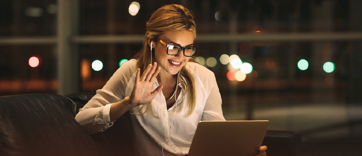
[[[0,36],[56,34],[56,0],[3,0]]]

